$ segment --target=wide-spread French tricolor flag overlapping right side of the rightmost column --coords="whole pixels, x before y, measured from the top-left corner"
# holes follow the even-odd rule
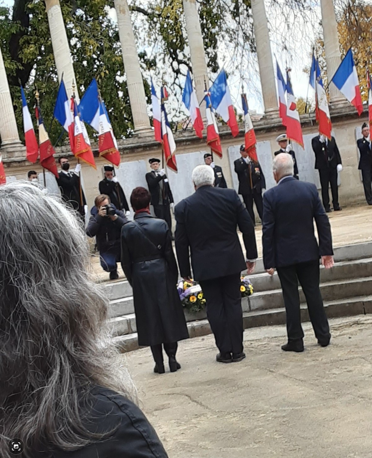
[[[339,68],[332,78],[332,82],[345,95],[350,104],[355,106],[360,116],[363,113],[363,105],[361,103],[361,90],[351,48],[340,63]]]

